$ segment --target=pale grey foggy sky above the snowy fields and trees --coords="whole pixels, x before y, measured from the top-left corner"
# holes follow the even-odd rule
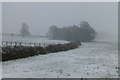
[[[100,33],[117,36],[118,8],[113,2],[4,2],[3,33],[19,33],[26,22],[33,35],[45,35],[51,25],[79,25],[82,20]]]

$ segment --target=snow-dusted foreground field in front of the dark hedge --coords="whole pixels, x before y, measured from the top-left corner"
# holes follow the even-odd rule
[[[4,78],[115,78],[117,44],[82,43],[77,49],[3,62]]]

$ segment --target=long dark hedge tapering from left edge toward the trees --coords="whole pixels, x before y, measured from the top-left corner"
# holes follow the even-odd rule
[[[26,58],[38,54],[54,53],[59,51],[67,51],[78,47],[78,43],[55,44],[46,47],[41,46],[7,46],[2,47],[2,61]]]

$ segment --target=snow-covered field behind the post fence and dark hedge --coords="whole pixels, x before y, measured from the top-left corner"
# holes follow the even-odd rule
[[[22,45],[24,46],[24,44],[26,43],[26,45],[29,46],[30,43],[35,43],[36,45],[39,45],[38,43],[41,44],[41,46],[47,46],[50,44],[65,44],[68,43],[68,41],[62,41],[62,40],[50,40],[45,36],[42,37],[31,37],[31,36],[27,36],[25,38],[23,38],[22,36],[13,36],[11,37],[11,35],[3,35],[2,36],[2,41],[3,42],[22,42]],[[8,44],[10,45],[10,43]]]

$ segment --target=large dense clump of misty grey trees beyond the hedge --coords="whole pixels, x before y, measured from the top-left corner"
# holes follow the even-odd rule
[[[52,25],[49,28],[48,34],[52,39],[88,42],[95,38],[97,32],[89,25],[88,22],[82,21],[80,26],[73,25],[58,28],[56,25]]]

